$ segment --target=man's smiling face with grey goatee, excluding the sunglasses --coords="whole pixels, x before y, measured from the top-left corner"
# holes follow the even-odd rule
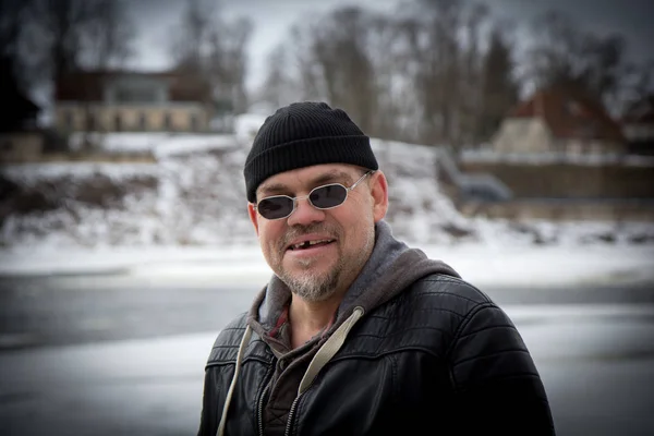
[[[258,186],[257,202],[274,195],[305,196],[330,183],[349,187],[364,173],[340,164],[282,172]],[[325,301],[352,283],[373,251],[375,222],[387,208],[386,178],[380,171],[364,178],[342,205],[331,209],[317,209],[302,198],[289,217],[268,220],[249,205],[268,265],[295,294],[312,302]]]

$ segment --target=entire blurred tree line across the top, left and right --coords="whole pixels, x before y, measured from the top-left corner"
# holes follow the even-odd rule
[[[615,116],[651,90],[654,63],[630,62],[621,35],[595,35],[556,11],[530,28],[525,36],[473,0],[335,9],[291,27],[255,89],[246,87],[254,25],[227,20],[219,2],[186,0],[166,44],[173,66],[210,83],[221,110],[324,99],[373,136],[455,147],[487,141],[529,90],[574,86]],[[0,0],[0,62],[11,86],[124,66],[136,38],[126,0]]]

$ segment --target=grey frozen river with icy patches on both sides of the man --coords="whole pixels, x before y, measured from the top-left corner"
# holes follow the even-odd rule
[[[2,435],[195,434],[216,332],[256,292],[21,280],[0,291]],[[654,434],[650,290],[488,293],[531,349],[559,435]]]

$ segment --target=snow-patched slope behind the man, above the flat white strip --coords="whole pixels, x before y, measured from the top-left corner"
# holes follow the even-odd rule
[[[254,244],[245,209],[247,135],[117,135],[110,148],[149,144],[156,164],[49,164],[2,168],[0,244]],[[146,145],[147,147],[147,145]],[[517,225],[462,217],[438,187],[436,154],[420,145],[373,140],[389,180],[387,220],[420,243],[578,243],[653,241],[646,225]],[[9,194],[9,195],[7,195]],[[607,237],[609,235],[609,237]]]

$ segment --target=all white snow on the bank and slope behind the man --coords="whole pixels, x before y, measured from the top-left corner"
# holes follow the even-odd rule
[[[270,271],[247,218],[242,174],[249,145],[264,120],[258,113],[238,117],[233,135],[102,136],[107,149],[147,150],[155,164],[2,167],[3,177],[61,207],[4,218],[0,274],[102,272],[160,282],[264,282]],[[653,279],[652,222],[465,217],[436,182],[436,164],[443,158],[438,148],[378,138],[371,144],[389,181],[386,219],[393,234],[450,264],[475,284]],[[493,158],[487,152],[474,156]],[[94,198],[97,186],[124,196],[108,205],[78,198]]]

